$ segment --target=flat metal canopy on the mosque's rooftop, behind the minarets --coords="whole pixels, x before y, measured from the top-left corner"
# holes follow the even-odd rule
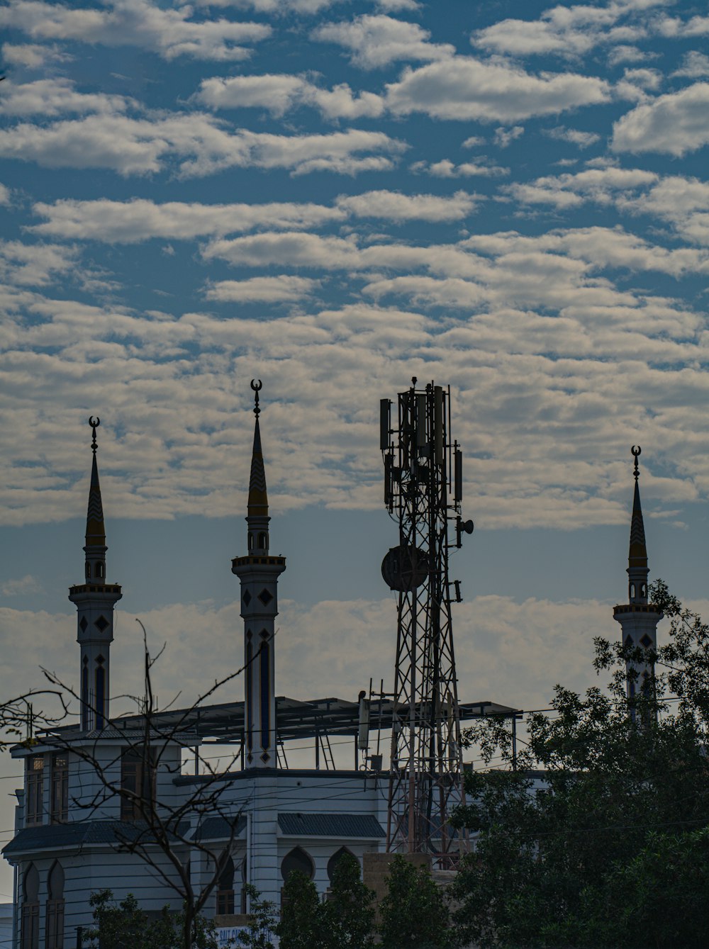
[[[404,706],[400,706],[401,716]],[[459,705],[461,721],[475,718],[500,716],[518,718],[519,709],[497,702],[461,702]],[[371,732],[390,729],[394,718],[394,702],[372,698],[369,709],[369,730]],[[111,720],[113,728],[134,731],[143,720],[142,716],[125,716]],[[241,743],[244,734],[244,703],[225,702],[220,705],[175,709],[158,712],[152,718],[154,733],[167,737],[170,733],[189,732],[202,741],[210,740],[215,744]],[[324,735],[357,735],[360,726],[359,702],[345,698],[315,698],[300,701],[286,696],[276,697],[276,732],[280,741],[293,741],[303,738],[316,738]],[[63,730],[57,730],[63,731]],[[115,732],[114,732],[115,735]]]

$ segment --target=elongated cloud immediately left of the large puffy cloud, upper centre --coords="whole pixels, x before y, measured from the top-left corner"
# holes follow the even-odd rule
[[[382,114],[382,97],[372,92],[357,95],[346,83],[323,89],[299,76],[272,74],[204,79],[196,100],[211,108],[261,107],[282,116],[299,105],[320,110],[327,119],[359,119]]]

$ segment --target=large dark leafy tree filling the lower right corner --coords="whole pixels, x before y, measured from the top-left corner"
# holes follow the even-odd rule
[[[627,699],[633,657],[599,640],[596,667],[613,672],[608,691],[581,697],[556,686],[553,714],[529,716],[516,772],[466,775],[455,820],[476,833],[476,848],[454,886],[466,940],[567,949],[705,941],[709,630],[662,583],[652,592],[673,619],[669,644],[653,657],[652,688]],[[503,722],[466,736],[488,763],[502,754],[512,765]]]

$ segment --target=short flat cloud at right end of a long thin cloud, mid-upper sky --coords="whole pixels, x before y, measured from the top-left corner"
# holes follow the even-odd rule
[[[363,195],[340,195],[337,205],[356,217],[382,217],[390,221],[459,221],[475,211],[476,197],[465,191],[457,191],[451,197],[369,191]]]

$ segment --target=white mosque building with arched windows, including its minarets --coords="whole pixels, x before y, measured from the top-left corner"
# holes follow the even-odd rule
[[[386,849],[389,773],[382,755],[367,754],[367,722],[373,732],[390,732],[392,701],[369,702],[364,693],[357,700],[276,695],[275,619],[286,558],[270,549],[260,385],[253,388],[246,552],[232,562],[244,621],[243,701],[163,712],[148,703],[140,715],[111,716],[111,643],[122,591],[105,579],[99,422],[90,419],[84,580],[69,589],[77,608],[81,716],[12,750],[26,775],[17,791],[16,832],[3,851],[15,868],[13,949],[80,945],[82,927],[92,921],[89,897],[103,889],[119,901],[132,893],[141,908],[158,912],[165,904],[177,909],[187,885],[200,893],[215,880],[203,912],[227,931],[245,920],[245,884],[278,906],[291,870],[304,871],[325,894],[345,851],[366,865],[365,855]],[[629,603],[616,606],[614,618],[624,642],[648,648],[661,615],[647,602],[637,456],[635,477]],[[639,667],[628,687],[649,671]],[[521,715],[490,701],[461,702],[459,710],[461,719]],[[333,738],[352,741],[351,770],[335,767]],[[289,768],[289,742],[304,741],[314,767]],[[203,759],[210,745],[234,749],[228,771],[209,772]]]

